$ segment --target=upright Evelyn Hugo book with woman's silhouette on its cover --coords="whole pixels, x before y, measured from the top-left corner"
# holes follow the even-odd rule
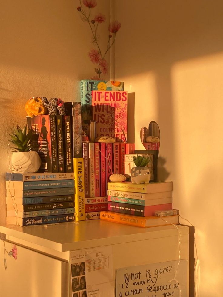
[[[28,128],[32,128],[35,133],[33,144],[42,161],[38,171],[58,172],[55,115],[27,117],[27,124]]]

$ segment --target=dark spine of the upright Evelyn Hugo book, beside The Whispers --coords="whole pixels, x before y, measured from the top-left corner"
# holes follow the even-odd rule
[[[58,172],[58,155],[57,155],[57,130],[56,130],[56,116],[49,115],[50,118],[50,144],[52,154],[52,172]]]

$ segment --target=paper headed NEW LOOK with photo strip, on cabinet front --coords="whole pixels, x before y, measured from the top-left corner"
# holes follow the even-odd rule
[[[73,297],[114,297],[112,246],[70,252]]]

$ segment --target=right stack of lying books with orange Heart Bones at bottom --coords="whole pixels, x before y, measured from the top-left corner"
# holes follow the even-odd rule
[[[150,217],[155,224],[156,211],[172,210],[172,182],[109,182],[107,194],[108,211],[100,214],[100,218],[105,220],[146,227],[150,226],[150,223],[146,223]],[[178,215],[171,217],[174,218],[169,223],[178,223]],[[165,220],[161,223],[169,224]]]

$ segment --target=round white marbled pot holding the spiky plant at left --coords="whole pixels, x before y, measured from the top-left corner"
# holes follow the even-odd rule
[[[37,152],[13,152],[12,153],[12,170],[17,173],[37,172],[41,159]]]

